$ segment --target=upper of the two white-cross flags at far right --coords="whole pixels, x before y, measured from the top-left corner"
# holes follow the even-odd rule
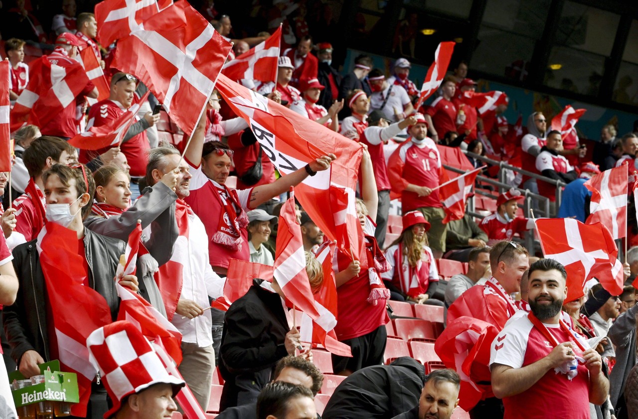
[[[602,223],[614,239],[627,235],[627,167],[615,167],[585,182],[591,191],[587,224]],[[615,294],[614,294],[615,295]]]

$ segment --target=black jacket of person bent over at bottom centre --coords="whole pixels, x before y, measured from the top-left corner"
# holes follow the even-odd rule
[[[388,419],[419,404],[424,366],[410,357],[354,372],[334,390],[323,419]]]

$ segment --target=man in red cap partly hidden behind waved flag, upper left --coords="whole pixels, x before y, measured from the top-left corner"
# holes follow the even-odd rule
[[[68,32],[65,32],[57,37],[56,40],[56,48],[53,50],[51,54],[48,55],[48,60],[51,64],[55,64],[64,68],[72,68],[75,66],[81,66],[80,63],[75,59],[77,57],[80,47],[80,41],[78,38]],[[66,79],[65,79],[66,80]],[[67,83],[73,83],[73,80],[66,80]],[[97,98],[98,97],[98,88],[95,87],[93,82],[89,80],[89,82],[84,86],[84,89],[78,94],[75,98]],[[75,136],[77,133],[77,129],[75,126],[75,115],[76,115],[76,101],[71,101],[62,112],[55,119],[53,119],[47,125],[40,127],[40,131],[42,135],[52,135],[59,136],[60,138],[64,138],[68,140],[69,138]]]

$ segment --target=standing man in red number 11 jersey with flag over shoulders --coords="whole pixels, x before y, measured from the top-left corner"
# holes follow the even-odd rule
[[[445,233],[443,224],[445,212],[439,198],[439,176],[441,156],[436,143],[428,138],[426,118],[415,115],[417,123],[408,126],[410,138],[392,153],[388,160],[388,175],[394,193],[401,194],[401,210],[420,210],[431,224],[427,232],[429,247],[434,258],[445,253]]]

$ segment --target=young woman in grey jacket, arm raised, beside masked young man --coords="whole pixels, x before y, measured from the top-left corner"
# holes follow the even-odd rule
[[[159,312],[165,312],[152,276],[159,265],[170,260],[173,244],[177,240],[177,195],[174,192],[177,173],[168,170],[160,182],[142,191],[133,206],[130,205],[130,177],[122,169],[103,166],[95,172],[94,179],[93,206],[84,225],[96,233],[124,241],[128,240],[138,220],[143,229],[151,226],[142,233],[142,244],[149,254],[140,256],[137,262],[140,294]]]

